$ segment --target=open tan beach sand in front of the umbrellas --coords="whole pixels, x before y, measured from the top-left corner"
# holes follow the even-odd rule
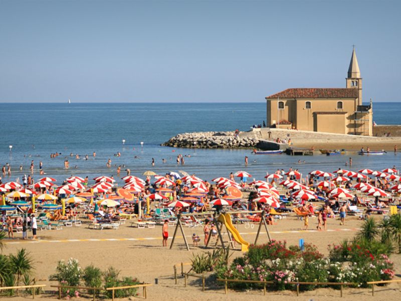
[[[381,218],[381,216],[375,216]],[[310,218],[309,225],[315,229],[316,218]],[[269,226],[271,237],[277,240],[286,240],[289,244],[298,244],[303,238],[305,242],[315,244],[319,251],[328,254],[327,246],[331,243],[340,242],[344,238],[352,238],[361,221],[356,217],[347,217],[345,225],[340,226],[339,220],[328,219],[329,231],[300,231],[303,221],[295,216],[289,216],[278,221],[277,225]],[[244,225],[238,225],[245,240],[253,242],[257,231],[257,225],[253,229],[245,229]],[[174,227],[169,227],[169,241],[173,234]],[[201,227],[184,227],[188,241],[191,241],[192,233],[197,233],[203,240]],[[184,287],[183,278],[178,279],[174,284],[173,265],[177,264],[180,271],[180,262],[186,263],[184,270],[189,270],[192,253],[205,251],[202,241],[199,247],[191,247],[187,251],[183,244],[182,237],[176,239],[176,245],[170,250],[161,246],[161,226],[154,229],[137,229],[130,227],[130,222],[120,226],[118,230],[94,230],[88,229],[87,224],[81,227],[64,227],[63,230],[44,230],[38,233],[39,242],[32,240],[8,240],[7,247],[3,253],[14,253],[17,249],[26,248],[35,261],[35,277],[37,282],[45,284],[56,284],[49,281],[49,275],[55,272],[57,261],[68,260],[70,257],[77,258],[82,267],[93,263],[102,269],[113,266],[121,270],[122,276],[135,276],[140,281],[152,283],[148,288],[149,300],[243,300],[251,296],[252,300],[399,300],[401,283],[392,283],[385,287],[376,287],[375,296],[371,296],[371,289],[344,289],[344,297],[340,298],[340,291],[330,288],[321,288],[314,291],[301,292],[297,297],[294,291],[274,291],[263,295],[261,290],[232,291],[224,294],[224,287],[215,287],[214,283],[207,282],[207,289],[202,292],[200,281],[196,278],[189,278],[187,287]],[[29,232],[31,235],[31,232]],[[21,234],[17,234],[20,237]],[[227,237],[227,236],[226,236]],[[135,240],[127,240],[135,239]],[[262,234],[259,243],[267,242],[267,235]],[[241,256],[240,251],[234,251],[232,258]],[[391,259],[395,263],[396,274],[401,274],[401,255],[394,254]],[[158,284],[155,284],[155,278]],[[192,285],[194,284],[194,285]],[[214,287],[208,287],[213,285]],[[56,290],[46,287],[45,290]],[[140,296],[142,295],[140,290]],[[26,300],[29,297],[13,297],[13,300]],[[39,299],[55,300],[57,293],[43,294]],[[7,298],[3,298],[7,299]],[[75,298],[73,298],[75,299]],[[82,299],[82,298],[81,298]]]

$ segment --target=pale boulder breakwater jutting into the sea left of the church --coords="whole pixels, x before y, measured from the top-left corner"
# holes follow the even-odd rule
[[[259,143],[256,135],[228,132],[181,133],[171,137],[162,146],[190,148],[254,148]]]

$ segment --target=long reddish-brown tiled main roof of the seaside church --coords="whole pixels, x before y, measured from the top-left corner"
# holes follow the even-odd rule
[[[356,98],[358,89],[353,88],[290,88],[266,98]]]

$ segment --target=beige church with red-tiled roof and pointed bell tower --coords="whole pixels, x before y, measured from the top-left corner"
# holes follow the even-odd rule
[[[352,50],[345,88],[290,88],[266,97],[267,125],[372,135],[372,102],[362,105],[362,78]]]

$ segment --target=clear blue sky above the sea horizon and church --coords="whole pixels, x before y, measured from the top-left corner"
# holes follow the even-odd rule
[[[401,1],[0,0],[0,102],[401,101]]]

